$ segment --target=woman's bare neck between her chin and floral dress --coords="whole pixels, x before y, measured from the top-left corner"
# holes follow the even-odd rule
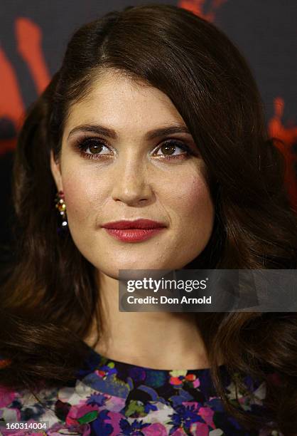
[[[156,369],[208,368],[207,353],[198,330],[196,313],[120,312],[119,281],[98,273],[102,331],[93,347],[121,362]],[[96,326],[85,339],[96,337]]]

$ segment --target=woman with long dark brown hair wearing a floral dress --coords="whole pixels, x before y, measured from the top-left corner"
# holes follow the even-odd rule
[[[283,175],[254,78],[215,26],[169,5],[82,26],[16,150],[5,425],[296,434],[296,313],[121,312],[118,296],[120,269],[295,269]]]

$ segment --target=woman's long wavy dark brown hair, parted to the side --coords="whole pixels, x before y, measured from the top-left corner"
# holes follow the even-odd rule
[[[95,267],[69,233],[57,234],[50,150],[58,159],[71,105],[106,68],[166,93],[205,160],[215,226],[187,267],[296,269],[297,217],[284,187],[284,160],[266,133],[259,91],[238,49],[214,25],[177,6],[110,12],[72,36],[63,65],[28,110],[18,137],[18,256],[1,288],[0,355],[10,364],[0,370],[0,385],[35,393],[41,385],[63,385],[89,351],[83,339],[91,321],[102,328]],[[247,428],[274,416],[285,435],[296,434],[297,314],[198,313],[197,322],[227,410]],[[266,382],[269,413],[261,422],[229,403],[217,350],[230,374]],[[279,385],[269,378],[274,371]]]

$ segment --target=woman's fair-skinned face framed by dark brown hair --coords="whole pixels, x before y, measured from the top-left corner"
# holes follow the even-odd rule
[[[165,128],[175,132],[158,132]],[[166,94],[111,70],[72,106],[51,169],[72,239],[102,273],[117,279],[119,269],[181,269],[205,248],[215,210],[205,163],[185,129]],[[135,219],[164,227],[102,227]]]

